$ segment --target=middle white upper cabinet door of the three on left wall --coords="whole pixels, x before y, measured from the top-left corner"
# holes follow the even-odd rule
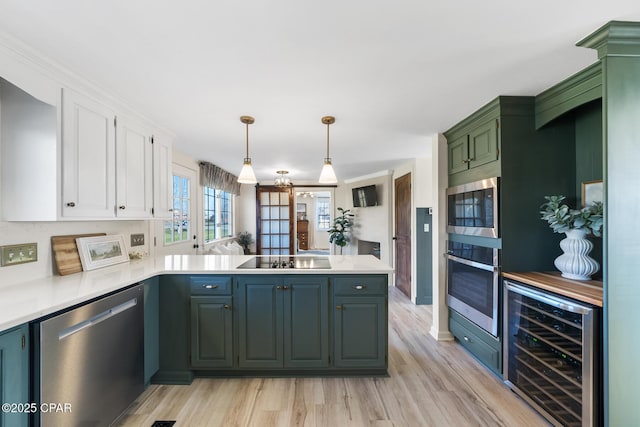
[[[116,200],[118,218],[152,217],[152,132],[122,116],[116,125]]]

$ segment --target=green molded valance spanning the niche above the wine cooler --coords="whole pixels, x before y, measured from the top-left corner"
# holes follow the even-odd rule
[[[598,61],[536,95],[536,129],[599,98],[602,98],[602,64]]]

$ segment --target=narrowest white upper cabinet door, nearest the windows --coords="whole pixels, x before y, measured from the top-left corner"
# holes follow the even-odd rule
[[[157,219],[172,219],[172,140],[163,135],[153,137],[153,216]]]

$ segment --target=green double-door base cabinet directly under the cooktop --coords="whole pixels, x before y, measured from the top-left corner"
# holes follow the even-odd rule
[[[329,279],[239,277],[238,366],[329,366]]]

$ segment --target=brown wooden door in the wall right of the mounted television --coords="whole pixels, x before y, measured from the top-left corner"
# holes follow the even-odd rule
[[[395,180],[396,287],[411,298],[411,174]]]

